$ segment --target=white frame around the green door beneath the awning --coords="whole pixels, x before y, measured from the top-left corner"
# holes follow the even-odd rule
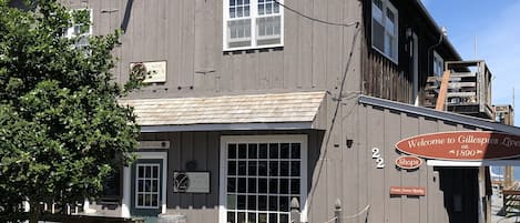
[[[136,152],[136,160],[162,160],[162,189],[161,189],[161,213],[166,213],[166,186],[167,186],[167,152]],[[132,166],[124,166],[123,170],[123,201],[121,205],[122,217],[130,217],[130,209],[132,207]]]

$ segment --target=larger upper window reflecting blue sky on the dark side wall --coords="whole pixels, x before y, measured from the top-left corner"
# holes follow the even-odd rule
[[[398,62],[399,19],[389,0],[371,1],[371,47]]]

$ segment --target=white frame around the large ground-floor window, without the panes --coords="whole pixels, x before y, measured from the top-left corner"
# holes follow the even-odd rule
[[[300,148],[300,183],[299,183],[299,193],[300,193],[300,222],[307,222],[307,135],[305,134],[285,134],[285,135],[225,135],[221,136],[221,168],[220,168],[220,178],[218,178],[218,223],[226,223],[226,158],[227,158],[227,143],[247,143],[247,142],[258,142],[258,143],[288,143],[288,142],[299,142],[302,143]]]

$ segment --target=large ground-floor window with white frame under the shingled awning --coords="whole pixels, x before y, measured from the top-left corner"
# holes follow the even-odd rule
[[[306,221],[306,135],[223,136],[220,223],[289,223],[296,199]]]

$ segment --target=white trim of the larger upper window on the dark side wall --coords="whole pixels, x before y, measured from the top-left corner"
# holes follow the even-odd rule
[[[384,41],[385,41],[385,38],[386,38],[386,33],[388,33],[388,32],[387,32],[387,28],[386,28],[386,20],[387,20],[387,11],[386,11],[386,9],[388,8],[390,11],[392,11],[394,14],[395,14],[395,17],[396,17],[396,18],[395,18],[395,26],[394,26],[394,29],[395,29],[394,32],[396,33],[396,36],[395,36],[395,39],[396,39],[395,42],[396,42],[396,43],[395,43],[395,49],[394,49],[394,50],[395,50],[395,52],[396,52],[396,57],[392,58],[392,55],[389,55],[389,54],[385,53],[384,51],[377,49],[377,48],[374,45],[374,28],[373,28],[373,30],[370,31],[371,48],[373,48],[374,50],[376,50],[377,52],[381,53],[383,55],[385,55],[385,58],[387,58],[387,59],[390,60],[391,62],[394,62],[394,63],[396,63],[396,64],[399,64],[399,11],[397,11],[397,8],[394,7],[394,4],[392,4],[389,0],[381,0],[381,2],[383,2],[383,21],[381,21],[381,22],[383,22],[383,27],[385,28],[385,32],[384,32],[384,33],[385,33],[385,37],[383,37],[383,38],[384,38]],[[370,3],[371,3],[370,6],[373,7],[374,2],[370,1]],[[370,8],[370,10],[371,10],[371,8]],[[373,14],[373,11],[370,11],[370,14],[371,14],[371,18],[370,18],[370,22],[371,22],[371,23],[370,23],[370,24],[371,24],[371,27],[374,27],[374,24],[373,24],[373,23],[374,23],[374,14]]]

